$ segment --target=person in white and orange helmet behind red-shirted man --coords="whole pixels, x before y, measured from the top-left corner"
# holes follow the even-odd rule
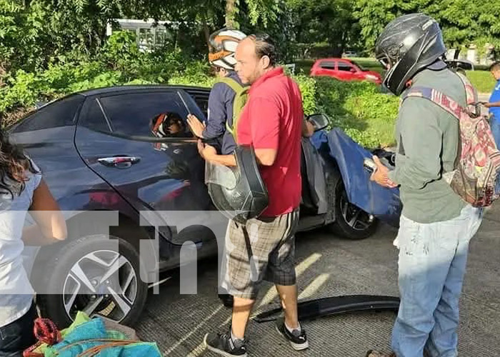
[[[236,59],[234,52],[239,41],[246,34],[239,30],[222,29],[210,36],[209,62],[214,67],[219,81],[214,84],[209,96],[209,110],[206,124],[190,114],[188,123],[193,133],[201,139],[215,140],[221,148],[221,154],[231,154],[236,147],[232,134],[234,100],[245,90],[234,71]],[[230,129],[230,130],[227,130]]]

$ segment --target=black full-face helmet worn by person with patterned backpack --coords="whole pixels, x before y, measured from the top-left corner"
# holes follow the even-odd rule
[[[375,56],[387,69],[384,86],[399,96],[421,69],[446,53],[439,24],[426,14],[409,14],[391,21],[375,44]]]

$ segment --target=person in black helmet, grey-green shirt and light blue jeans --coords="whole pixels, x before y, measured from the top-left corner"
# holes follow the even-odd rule
[[[443,61],[439,24],[424,14],[400,16],[376,42],[376,57],[387,69],[386,87],[397,96],[410,87],[435,89],[466,106],[458,74]],[[478,230],[481,208],[462,200],[444,181],[459,155],[459,122],[428,99],[411,96],[396,123],[396,166],[376,161],[371,179],[399,186],[403,211],[394,245],[399,248],[401,306],[392,331],[393,352],[366,356],[457,356],[459,297],[469,241]]]

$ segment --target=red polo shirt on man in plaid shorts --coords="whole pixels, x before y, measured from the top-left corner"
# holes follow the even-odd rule
[[[237,125],[238,144],[277,151],[272,166],[260,166],[269,193],[269,206],[262,216],[281,216],[299,207],[303,120],[299,86],[282,68],[267,72],[251,85]]]

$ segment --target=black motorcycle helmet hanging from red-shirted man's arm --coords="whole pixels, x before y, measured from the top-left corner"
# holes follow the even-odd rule
[[[216,208],[236,223],[258,217],[269,204],[254,149],[236,146],[236,166],[206,163],[205,183]]]

